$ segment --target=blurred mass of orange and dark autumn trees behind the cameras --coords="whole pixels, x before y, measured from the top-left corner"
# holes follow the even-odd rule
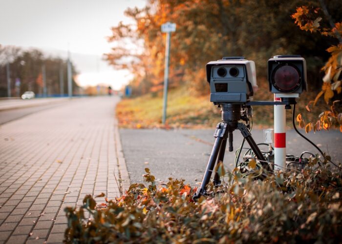
[[[207,93],[204,66],[223,56],[255,60],[257,74],[262,78],[266,77],[270,57],[301,54],[308,63],[310,87],[318,87],[320,66],[328,59],[324,49],[332,40],[295,28],[291,14],[300,2],[149,0],[144,8],[125,12],[133,23],[120,22],[112,27],[108,41],[114,47],[105,59],[116,68],[130,70],[135,91],[160,89],[165,53],[165,35],[160,26],[171,21],[177,24],[171,35],[171,86],[186,84],[192,90]]]

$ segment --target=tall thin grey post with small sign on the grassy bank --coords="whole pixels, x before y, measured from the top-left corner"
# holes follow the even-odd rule
[[[166,109],[168,102],[168,77],[169,77],[169,56],[170,56],[170,45],[171,45],[171,32],[176,31],[176,24],[167,22],[162,24],[162,32],[166,33],[166,45],[165,45],[165,68],[164,68],[164,103],[163,103],[163,119],[162,122],[165,124],[166,121]]]

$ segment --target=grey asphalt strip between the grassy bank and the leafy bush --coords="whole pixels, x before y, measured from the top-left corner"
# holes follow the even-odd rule
[[[302,131],[305,133],[304,131]],[[162,181],[169,177],[185,179],[194,184],[202,180],[212,146],[214,128],[205,130],[179,129],[120,129],[124,155],[128,166],[130,181],[143,182],[144,168]],[[256,143],[263,142],[263,131],[254,129],[252,136]],[[335,163],[342,162],[342,133],[339,131],[321,131],[306,135],[322,151],[330,153]],[[234,132],[234,152],[226,151],[224,164],[233,168],[235,149],[242,142],[239,131]],[[245,143],[245,147],[247,147]],[[248,146],[249,147],[249,146]],[[318,153],[317,149],[302,139],[295,130],[287,131],[287,153],[300,155],[303,151]]]

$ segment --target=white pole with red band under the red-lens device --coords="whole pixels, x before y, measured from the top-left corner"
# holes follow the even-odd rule
[[[275,102],[281,102],[274,95]],[[274,105],[274,163],[275,169],[286,166],[286,110],[285,105]]]

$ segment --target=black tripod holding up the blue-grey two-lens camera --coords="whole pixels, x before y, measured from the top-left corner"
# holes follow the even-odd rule
[[[197,192],[193,196],[193,199],[198,199],[201,195],[205,194],[205,187],[210,181],[215,162],[223,162],[227,140],[229,142],[229,151],[233,151],[233,131],[235,129],[238,129],[241,132],[243,138],[251,146],[262,167],[269,172],[273,172],[270,165],[266,163],[265,157],[262,155],[260,149],[257,147],[257,144],[252,138],[251,133],[246,128],[246,125],[242,122],[238,122],[239,120],[241,120],[241,104],[226,103],[221,104],[220,106],[222,113],[222,122],[218,123],[216,126],[216,130],[214,133],[214,138],[216,138],[214,147],[210,155],[201,186],[197,189]],[[221,181],[219,175],[217,172],[215,172],[214,184],[218,185],[220,183]]]

